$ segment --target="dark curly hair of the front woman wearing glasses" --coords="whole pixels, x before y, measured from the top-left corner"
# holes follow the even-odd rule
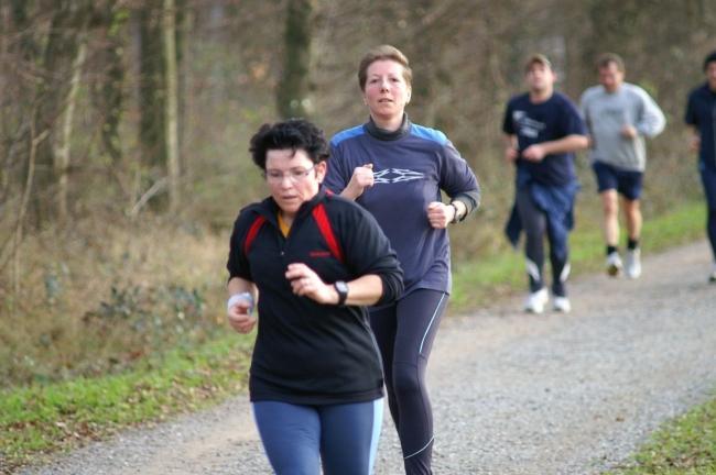
[[[265,156],[270,150],[302,150],[314,164],[328,159],[328,142],[321,129],[305,119],[289,119],[263,124],[251,137],[251,158],[265,170]]]

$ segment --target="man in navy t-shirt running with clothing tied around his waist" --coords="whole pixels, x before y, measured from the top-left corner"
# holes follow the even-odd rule
[[[554,90],[556,74],[542,54],[532,55],[524,67],[528,92],[507,104],[502,131],[505,158],[516,165],[516,203],[507,235],[517,246],[524,231],[530,294],[524,309],[542,313],[550,296],[544,284],[544,235],[550,241],[554,310],[568,312],[566,279],[569,275],[568,234],[573,228],[574,199],[579,189],[574,152],[588,141],[579,112]]]

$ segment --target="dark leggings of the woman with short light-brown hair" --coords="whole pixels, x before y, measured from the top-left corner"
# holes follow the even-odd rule
[[[433,410],[425,367],[446,305],[447,294],[420,289],[397,303],[370,310],[408,475],[432,474]]]

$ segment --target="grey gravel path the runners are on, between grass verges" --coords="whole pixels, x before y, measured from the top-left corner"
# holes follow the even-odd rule
[[[663,420],[713,396],[707,256],[702,242],[648,257],[636,281],[575,279],[566,316],[527,316],[516,298],[444,320],[430,368],[435,473],[598,474]],[[271,472],[242,396],[22,473]],[[388,419],[376,473],[402,473]]]

